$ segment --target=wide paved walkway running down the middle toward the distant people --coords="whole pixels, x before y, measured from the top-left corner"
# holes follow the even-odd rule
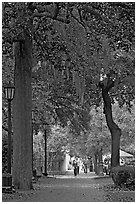
[[[11,202],[105,202],[101,187],[111,183],[111,178],[98,178],[94,173],[81,172],[75,177],[69,171],[67,175],[42,177],[32,193]]]

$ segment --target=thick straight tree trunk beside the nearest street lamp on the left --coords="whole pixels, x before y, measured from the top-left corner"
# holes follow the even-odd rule
[[[15,98],[13,104],[13,184],[18,189],[32,188],[32,40],[16,42]]]

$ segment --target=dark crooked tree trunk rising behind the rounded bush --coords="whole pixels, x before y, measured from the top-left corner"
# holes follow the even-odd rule
[[[121,136],[121,129],[113,121],[111,99],[108,93],[110,89],[114,86],[114,82],[108,78],[107,83],[100,82],[99,85],[102,88],[102,97],[104,100],[104,114],[106,117],[107,126],[111,132],[111,138],[112,138],[111,166],[114,167],[119,165],[120,136]]]

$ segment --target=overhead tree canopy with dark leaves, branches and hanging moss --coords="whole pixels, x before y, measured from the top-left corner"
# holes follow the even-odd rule
[[[20,9],[24,16],[16,21]],[[41,62],[43,74],[45,77],[48,74],[49,86],[55,79],[56,83],[61,83],[60,77],[65,83],[73,81],[80,97],[84,92],[84,99],[92,96],[90,101],[94,101],[92,94],[98,92],[95,85],[103,68],[103,74],[113,70],[121,78],[119,95],[134,91],[132,84],[129,86],[134,81],[130,80],[131,74],[134,76],[134,2],[5,2],[3,53],[7,53],[7,44],[21,37],[21,29],[29,31],[30,20],[33,20],[30,33],[33,35],[34,67]],[[124,85],[122,92],[120,87],[123,89]]]

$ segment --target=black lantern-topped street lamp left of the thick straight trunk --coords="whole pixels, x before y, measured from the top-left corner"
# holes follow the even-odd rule
[[[15,87],[11,85],[10,81],[4,87],[5,97],[8,100],[8,173],[11,174],[11,101],[14,98]]]

